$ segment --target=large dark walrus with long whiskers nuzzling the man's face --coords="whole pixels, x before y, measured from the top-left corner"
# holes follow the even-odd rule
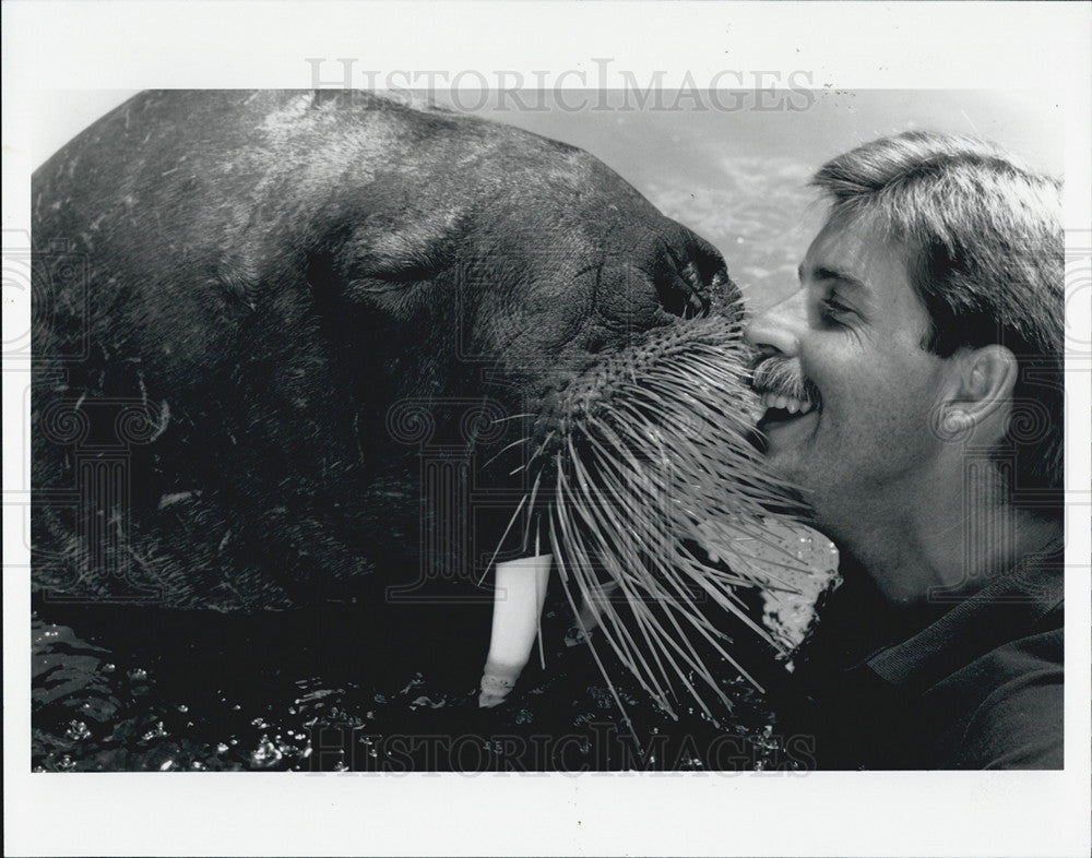
[[[454,611],[548,552],[665,710],[720,693],[710,609],[794,500],[721,254],[597,159],[366,93],[152,92],[32,194],[39,592]]]

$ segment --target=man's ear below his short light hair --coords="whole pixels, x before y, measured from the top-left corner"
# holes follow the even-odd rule
[[[957,365],[949,388],[950,418],[981,433],[996,422],[998,439],[1005,433],[1012,389],[1017,382],[1017,358],[1001,345],[970,348],[954,356]]]

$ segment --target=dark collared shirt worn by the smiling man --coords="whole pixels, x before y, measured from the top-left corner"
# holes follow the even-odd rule
[[[875,593],[832,597],[783,727],[820,768],[1061,768],[1063,580],[1030,560],[901,637]]]

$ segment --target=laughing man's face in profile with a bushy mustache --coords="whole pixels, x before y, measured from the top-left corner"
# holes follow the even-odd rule
[[[942,442],[930,428],[948,361],[922,348],[928,315],[901,248],[867,223],[828,223],[799,269],[800,288],[753,321],[762,357],[792,384],[756,369],[770,462],[807,491],[835,539],[869,519],[898,525],[928,503]],[[770,388],[772,386],[772,390]]]

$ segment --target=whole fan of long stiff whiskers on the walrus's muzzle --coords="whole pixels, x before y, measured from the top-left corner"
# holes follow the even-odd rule
[[[775,570],[800,568],[784,549],[783,562],[778,552],[771,562],[737,543],[775,545],[765,524],[769,510],[798,509],[792,488],[767,469],[748,438],[753,421],[738,405],[756,400],[739,333],[723,319],[693,320],[608,359],[585,383],[570,385],[560,422],[529,460],[538,470],[530,508],[545,504],[566,596],[581,630],[586,636],[578,593],[598,606],[602,640],[672,717],[677,717],[676,688],[710,717],[709,691],[729,704],[704,660],[707,647],[760,688],[728,653],[731,637],[698,601],[708,599],[709,608],[781,648],[750,617],[736,588],[787,588]],[[556,470],[554,496],[541,499],[537,487],[547,468]],[[707,521],[725,524],[707,528]],[[714,544],[713,536],[725,529],[729,557],[724,559],[731,562],[703,560],[684,545],[687,539]],[[604,581],[614,583],[616,597],[596,596]],[[618,605],[626,606],[625,613]],[[617,694],[609,677],[607,682]]]

